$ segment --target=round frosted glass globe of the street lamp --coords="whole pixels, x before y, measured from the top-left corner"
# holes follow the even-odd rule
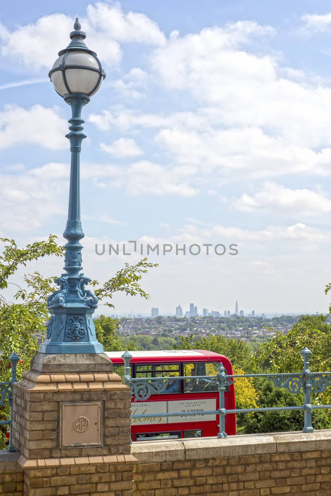
[[[63,59],[65,71],[56,70],[51,75],[51,80],[56,91],[62,96],[66,93],[92,94],[91,92],[98,84],[100,76],[100,66],[96,57],[88,52],[81,52],[78,50],[68,52],[66,57],[65,54],[63,54],[55,61],[53,68],[62,65]],[[77,65],[77,68],[73,67],[75,65]],[[67,66],[70,66],[70,68],[66,68]],[[91,69],[89,69],[89,67],[91,67]],[[64,84],[62,72],[65,72],[67,86],[70,91],[68,91]],[[103,77],[100,78],[100,83],[93,94],[99,90],[102,81]]]

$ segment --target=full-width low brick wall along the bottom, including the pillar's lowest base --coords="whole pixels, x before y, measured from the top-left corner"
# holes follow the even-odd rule
[[[138,464],[130,455],[39,460],[23,470],[25,495],[132,496],[132,470],[134,496],[331,495],[331,431],[139,442],[131,454]],[[17,457],[0,452],[1,496],[23,495]]]

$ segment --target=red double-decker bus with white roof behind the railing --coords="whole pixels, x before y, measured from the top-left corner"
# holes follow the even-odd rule
[[[114,372],[123,376],[123,352],[106,352]],[[219,415],[190,415],[190,412],[210,412],[219,409],[219,391],[208,380],[196,376],[213,376],[223,364],[227,374],[232,374],[228,358],[204,350],[131,351],[131,377],[184,377],[174,380],[162,394],[152,394],[147,401],[131,400],[132,415],[150,415],[131,422],[133,441],[152,439],[178,439],[185,437],[217,436]],[[187,379],[186,379],[187,377]],[[235,408],[234,385],[224,393],[225,409]],[[163,413],[179,413],[163,417]],[[235,414],[225,416],[226,434],[236,434]]]

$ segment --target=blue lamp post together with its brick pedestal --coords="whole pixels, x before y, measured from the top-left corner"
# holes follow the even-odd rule
[[[71,43],[59,52],[50,71],[55,90],[72,111],[66,135],[71,151],[63,233],[67,243],[64,272],[56,280],[59,289],[47,300],[51,318],[46,340],[31,370],[13,385],[13,445],[21,455],[24,496],[105,491],[133,496],[137,460],[129,454],[131,392],[113,373],[97,341],[92,315],[98,299],[86,287],[91,280],[81,272],[79,159],[86,137],[81,112],[105,76],[85,36],[76,19]],[[98,465],[103,465],[102,484]]]

